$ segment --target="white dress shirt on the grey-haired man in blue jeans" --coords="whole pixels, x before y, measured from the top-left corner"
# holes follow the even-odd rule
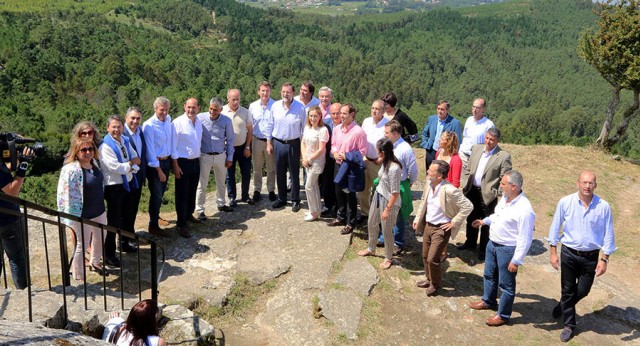
[[[533,240],[533,225],[536,221],[536,214],[524,193],[521,192],[511,202],[507,202],[507,197],[502,196],[495,212],[482,221],[491,226],[489,239],[492,242],[516,247],[511,262],[522,265]]]

